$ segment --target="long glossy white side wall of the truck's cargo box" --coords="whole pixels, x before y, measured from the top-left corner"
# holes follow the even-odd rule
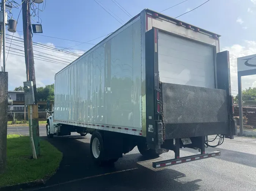
[[[54,119],[141,129],[141,20],[55,75]]]

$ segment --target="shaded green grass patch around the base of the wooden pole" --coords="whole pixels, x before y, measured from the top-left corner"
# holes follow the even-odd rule
[[[0,187],[44,179],[56,172],[62,153],[46,140],[41,140],[41,156],[30,159],[28,136],[7,136],[7,169],[0,174]]]

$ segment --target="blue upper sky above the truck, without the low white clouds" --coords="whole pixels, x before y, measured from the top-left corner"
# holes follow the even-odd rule
[[[183,0],[116,1],[132,16],[135,16],[144,8],[160,12],[163,9],[182,2]],[[196,6],[201,5],[205,1],[206,0],[188,0],[187,2],[164,11],[163,13],[171,17],[176,17],[189,9],[193,9]],[[72,1],[64,0],[46,1],[45,10],[39,14],[42,19],[43,35],[86,42],[113,32],[121,26],[119,22],[97,5],[94,0],[76,0],[74,3],[71,2]],[[99,0],[99,2],[118,15],[118,17],[124,21],[123,23],[130,19],[112,2],[112,0]],[[17,18],[19,10],[13,9],[12,12],[14,18]],[[254,47],[253,43],[248,45],[248,42],[245,42],[245,40],[256,42],[255,18],[256,0],[210,0],[200,8],[179,17],[179,19],[184,22],[191,23],[199,28],[220,34],[221,49],[232,50],[232,52],[236,52],[234,54],[237,54],[237,56],[248,54],[249,52],[247,50],[251,50],[251,52],[253,52],[254,49],[252,51],[252,48],[255,48],[256,51],[256,45]],[[19,18],[17,30],[22,31],[22,14]],[[23,37],[22,33],[17,32],[16,35],[18,34]],[[90,43],[96,44],[102,39],[97,39]],[[53,39],[39,35],[34,35],[33,41],[40,43],[52,43],[55,46],[63,47],[70,47],[79,44],[77,42]],[[88,50],[92,46],[93,45],[83,44],[73,48]],[[243,53],[239,53],[239,48],[240,50],[242,49]],[[234,57],[235,56],[236,55],[234,55]],[[236,59],[233,58],[233,60]],[[231,68],[235,71],[236,63],[233,63]],[[236,76],[235,73],[236,72],[234,72],[234,76]],[[51,77],[51,80],[42,79],[42,83],[39,85],[45,85],[53,82],[53,77]],[[246,85],[246,87],[254,85],[254,81],[256,81],[254,78],[255,77],[251,78],[250,82],[248,81],[248,85]],[[12,83],[9,85],[9,88],[13,89],[13,86],[15,85],[16,83]],[[235,81],[234,85],[236,85]]]

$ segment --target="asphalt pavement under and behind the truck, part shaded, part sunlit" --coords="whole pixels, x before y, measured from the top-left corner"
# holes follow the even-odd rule
[[[60,169],[46,182],[46,187],[30,190],[256,190],[256,144],[251,138],[237,137],[225,140],[218,148],[207,149],[219,150],[221,156],[157,170],[151,167],[152,161],[141,157],[137,148],[114,166],[94,165],[90,156],[90,135],[54,137],[49,141],[63,152]],[[182,149],[181,156],[197,151],[192,152]],[[173,157],[173,152],[169,151],[155,160]]]

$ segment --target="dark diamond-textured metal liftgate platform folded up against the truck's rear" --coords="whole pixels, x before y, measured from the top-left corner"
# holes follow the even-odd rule
[[[223,89],[162,83],[165,139],[227,134],[227,95]]]

